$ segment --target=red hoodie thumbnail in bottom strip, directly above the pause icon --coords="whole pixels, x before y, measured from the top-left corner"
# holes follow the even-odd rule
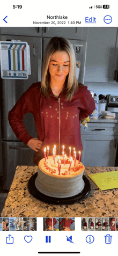
[[[52,231],[59,230],[59,218],[43,218],[43,230]]]

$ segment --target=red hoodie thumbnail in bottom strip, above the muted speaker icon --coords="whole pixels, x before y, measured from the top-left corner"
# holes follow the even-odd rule
[[[60,218],[60,230],[61,231],[73,231],[75,230],[75,218]]]

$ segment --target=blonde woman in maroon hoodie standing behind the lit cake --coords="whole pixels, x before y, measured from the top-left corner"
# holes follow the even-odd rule
[[[49,41],[43,58],[41,83],[32,84],[9,112],[10,125],[19,138],[34,150],[34,163],[44,157],[44,148],[49,146],[49,155],[64,152],[69,147],[82,151],[80,120],[87,118],[95,109],[94,100],[86,86],[77,83],[76,60],[71,43],[54,37]],[[26,113],[34,116],[38,138],[28,135],[23,118]],[[67,151],[66,151],[67,150]],[[77,155],[78,159],[78,155]]]

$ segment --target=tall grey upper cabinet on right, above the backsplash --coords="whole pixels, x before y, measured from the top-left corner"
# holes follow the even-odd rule
[[[89,28],[85,82],[116,83],[117,46],[117,27]]]

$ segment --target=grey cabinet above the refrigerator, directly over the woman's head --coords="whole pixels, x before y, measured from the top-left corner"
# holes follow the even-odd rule
[[[87,27],[42,27],[43,37],[62,36],[68,39],[87,41],[89,28]]]

